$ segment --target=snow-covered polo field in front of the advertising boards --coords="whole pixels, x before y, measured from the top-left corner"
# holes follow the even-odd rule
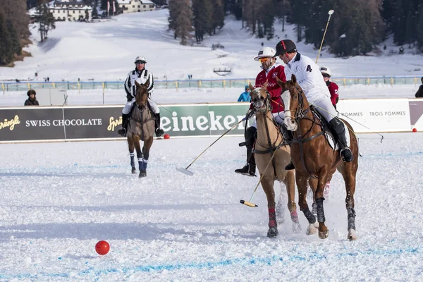
[[[240,137],[155,140],[147,178],[125,141],[0,146],[0,281],[421,281],[422,133],[360,135],[358,240],[349,242],[343,180],[324,202],[329,238],[286,221],[266,238],[266,197]],[[276,194],[279,184],[275,183]],[[111,245],[99,256],[99,240]]]

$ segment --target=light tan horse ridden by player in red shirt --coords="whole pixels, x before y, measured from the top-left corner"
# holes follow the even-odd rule
[[[278,235],[278,219],[283,219],[283,204],[281,190],[278,206],[275,211],[275,180],[286,185],[288,193],[288,209],[293,221],[293,231],[300,231],[297,206],[295,204],[295,176],[293,171],[286,171],[285,166],[290,162],[290,147],[283,142],[283,136],[271,114],[271,97],[264,87],[252,87],[250,84],[251,102],[255,109],[257,122],[257,140],[255,141],[255,161],[260,173],[260,183],[267,197],[269,209],[269,231],[267,237]],[[270,164],[271,163],[271,164]],[[269,166],[268,166],[269,164]],[[279,221],[281,222],[281,221]]]

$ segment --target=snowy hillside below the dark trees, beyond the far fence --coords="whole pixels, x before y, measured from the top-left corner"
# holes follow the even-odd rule
[[[336,16],[336,13],[334,14]],[[133,68],[135,56],[147,58],[147,68],[159,80],[181,80],[192,74],[193,79],[221,78],[213,68],[232,68],[226,78],[254,78],[259,63],[252,58],[264,46],[274,47],[279,39],[295,40],[293,25],[282,32],[276,23],[276,37],[269,42],[258,39],[241,28],[241,22],[231,16],[219,34],[207,37],[202,44],[182,46],[173,33],[168,32],[168,10],[132,13],[116,16],[103,23],[56,23],[47,42],[39,42],[37,25],[30,30],[34,44],[27,48],[32,57],[16,62],[14,68],[0,68],[0,80],[34,78],[39,80],[119,80]],[[322,27],[323,28],[323,27]],[[329,25],[329,29],[331,26]],[[212,51],[212,44],[224,49]],[[329,66],[334,76],[351,75],[423,75],[423,56],[413,55],[405,48],[398,55],[398,47],[385,42],[384,56],[357,56],[336,59],[325,50],[319,65]],[[300,53],[316,58],[318,50],[312,45],[298,43]]]

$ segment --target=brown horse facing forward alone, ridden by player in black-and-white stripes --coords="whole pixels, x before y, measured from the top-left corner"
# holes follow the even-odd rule
[[[148,106],[148,86],[149,81],[140,84],[135,81],[136,97],[133,109],[130,114],[128,123],[128,133],[126,135],[128,140],[128,148],[130,154],[130,166],[133,174],[137,173],[135,168],[134,148],[137,151],[138,166],[140,169],[139,177],[147,176],[147,163],[149,158],[149,149],[153,144],[153,136],[155,129],[155,120]],[[142,152],[140,147],[140,140],[144,141]]]

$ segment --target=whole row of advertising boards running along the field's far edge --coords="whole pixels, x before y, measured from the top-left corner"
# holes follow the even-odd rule
[[[161,105],[161,127],[172,137],[220,136],[245,117],[249,103]],[[0,142],[118,139],[123,106],[0,109]],[[344,99],[337,105],[356,133],[423,130],[423,100]],[[252,122],[254,119],[250,120]],[[243,135],[245,122],[228,135]]]

